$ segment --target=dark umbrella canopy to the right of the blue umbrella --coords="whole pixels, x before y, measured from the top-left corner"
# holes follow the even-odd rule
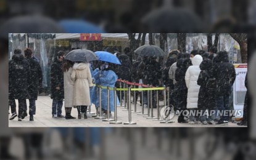
[[[154,45],[144,45],[141,47],[138,47],[138,49],[134,50],[134,52],[141,56],[153,56],[153,57],[162,57],[165,55],[165,52],[163,52],[160,47],[154,46]]]

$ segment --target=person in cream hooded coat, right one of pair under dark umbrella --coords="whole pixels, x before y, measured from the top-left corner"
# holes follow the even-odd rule
[[[71,78],[75,81],[73,105],[77,108],[78,119],[81,119],[81,113],[86,119],[87,106],[91,105],[89,87],[93,87],[89,63],[75,63]]]

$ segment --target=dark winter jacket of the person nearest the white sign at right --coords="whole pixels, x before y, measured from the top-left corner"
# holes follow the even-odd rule
[[[227,52],[218,52],[217,57],[215,57],[213,76],[217,80],[217,94],[230,94],[231,87],[236,79],[236,71],[234,70],[234,65],[228,62]]]

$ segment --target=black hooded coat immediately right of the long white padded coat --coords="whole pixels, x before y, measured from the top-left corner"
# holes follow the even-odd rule
[[[214,109],[216,96],[216,79],[212,75],[212,60],[205,59],[200,64],[197,84],[200,86],[197,106],[199,110]]]

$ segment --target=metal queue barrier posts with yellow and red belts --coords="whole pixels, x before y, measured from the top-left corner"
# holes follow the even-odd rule
[[[120,81],[120,84],[122,83],[122,80],[119,80]],[[103,86],[99,86],[99,107],[100,107],[100,115],[97,116],[95,119],[104,119],[103,121],[107,121],[109,122],[110,124],[122,124],[122,122],[119,122],[117,121],[117,90],[120,91],[120,97],[122,97],[122,91],[124,92],[124,99],[125,99],[125,108],[126,110],[125,111],[128,111],[128,122],[124,122],[123,124],[129,124],[129,125],[133,125],[133,124],[136,124],[136,122],[132,122],[131,121],[131,91],[134,91],[134,112],[133,113],[138,113],[136,112],[136,91],[139,91],[141,90],[141,98],[142,98],[142,110],[141,110],[141,114],[138,114],[138,115],[147,115],[147,116],[144,116],[146,117],[147,119],[154,119],[154,121],[160,121],[160,123],[171,123],[172,121],[170,121],[170,118],[166,118],[166,119],[160,119],[160,106],[159,106],[159,90],[164,90],[164,106],[166,107],[167,104],[170,105],[170,89],[169,87],[166,88],[165,86],[164,87],[152,87],[152,86],[149,86],[148,85],[144,85],[144,84],[138,84],[138,83],[131,83],[131,82],[128,82],[128,81],[123,81],[124,82],[124,88],[122,88],[122,84],[120,85],[120,88],[110,88],[110,87],[103,87]],[[131,84],[132,86],[134,86],[133,88],[131,88],[132,86],[129,86],[128,87],[128,84]],[[136,88],[135,86],[142,86],[142,87],[146,87],[146,88]],[[107,97],[108,97],[108,107],[107,107],[107,119],[105,117],[103,117],[101,114],[101,107],[102,107],[102,104],[101,104],[101,92],[102,92],[102,89],[107,89]],[[110,95],[110,90],[114,90],[114,107],[115,107],[115,113],[114,113],[114,119],[110,119],[109,118],[109,111],[110,111],[110,100],[109,100],[109,95]],[[157,98],[157,118],[154,118],[154,113],[153,113],[153,105],[152,105],[152,98],[153,98],[153,95],[152,95],[152,91],[153,90],[156,90],[156,98]],[[126,93],[127,92],[127,93]],[[147,113],[144,113],[144,102],[143,102],[143,93],[144,92],[147,92]],[[167,93],[168,92],[168,99],[167,99]],[[120,100],[120,104],[122,103],[122,100]],[[122,106],[122,105],[120,105]],[[150,108],[151,107],[151,108]]]

